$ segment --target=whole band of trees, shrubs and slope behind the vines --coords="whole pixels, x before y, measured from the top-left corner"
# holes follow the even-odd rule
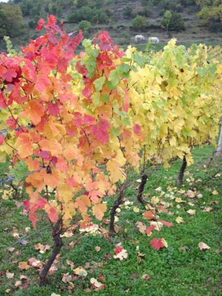
[[[167,10],[171,13],[168,25]],[[58,21],[63,18],[67,32],[81,28],[85,37],[92,38],[97,31],[106,30],[119,45],[134,44],[134,36],[140,34],[145,36],[145,42],[156,36],[164,44],[171,37],[189,44],[222,42],[217,34],[222,32],[221,1],[9,0],[0,2],[0,51],[6,50],[5,35],[12,38],[17,50],[21,42],[25,45],[35,39],[37,21],[49,14]]]

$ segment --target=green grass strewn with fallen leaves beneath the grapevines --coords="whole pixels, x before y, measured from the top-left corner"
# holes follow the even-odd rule
[[[50,275],[51,284],[47,287],[39,287],[38,275],[34,267],[21,271],[18,268],[18,262],[27,261],[28,258],[37,258],[40,261],[45,261],[48,258],[50,251],[40,254],[39,251],[35,250],[34,245],[39,242],[44,245],[53,244],[49,227],[40,232],[35,231],[29,218],[20,215],[22,208],[15,207],[14,200],[1,200],[0,250],[16,242],[11,235],[13,227],[17,228],[20,236],[25,233],[25,227],[31,227],[27,235],[32,235],[28,238],[28,244],[16,244],[13,252],[4,250],[0,253],[0,295],[51,296],[52,293],[61,296],[69,295],[67,290],[69,284],[61,281],[62,273],[73,274],[66,260],[72,260],[75,264],[74,268],[85,266],[85,264],[89,265],[86,268],[88,272],[86,278],[76,277],[73,280],[72,294],[74,295],[89,295],[89,293],[84,292],[84,289],[90,287],[90,278],[98,278],[100,273],[105,278],[105,289],[98,292],[91,290],[90,295],[221,295],[220,252],[215,252],[221,248],[220,204],[210,205],[213,208],[210,212],[203,212],[203,208],[201,208],[209,207],[210,201],[219,201],[222,194],[221,176],[215,177],[221,173],[222,160],[215,157],[210,166],[205,167],[213,150],[214,147],[212,146],[194,149],[195,162],[187,168],[182,186],[186,191],[188,189],[199,190],[203,195],[202,198],[188,198],[177,192],[178,189],[175,184],[181,163],[172,165],[168,170],[161,169],[154,172],[148,179],[144,194],[150,193],[150,196],[157,196],[159,193],[155,191],[155,188],[161,186],[165,193],[173,191],[175,196],[180,196],[185,200],[185,203],[178,204],[174,200],[165,198],[172,204],[168,209],[172,216],[163,212],[160,214],[160,220],[173,222],[173,227],[164,226],[161,230],[162,237],[168,242],[168,248],[160,249],[157,252],[149,246],[152,238],[155,236],[158,238],[155,230],[150,238],[138,231],[135,226],[137,221],[146,225],[148,225],[148,222],[142,217],[143,207],[136,201],[135,191],[128,188],[125,197],[133,201],[134,204],[129,209],[121,207],[121,212],[116,215],[119,218],[116,223],[119,226],[119,233],[113,239],[98,234],[83,235],[80,238],[63,238],[65,247],[70,241],[75,239],[78,241],[74,248],[69,251],[65,247],[62,248],[57,266],[58,270]],[[2,172],[2,164],[0,169]],[[186,181],[188,178],[193,178],[194,181]],[[198,179],[201,179],[201,182],[197,181]],[[170,189],[169,185],[173,189]],[[219,195],[213,195],[213,190],[217,190]],[[23,198],[18,198],[18,201],[23,200]],[[107,202],[111,206],[113,198],[107,199]],[[190,206],[188,202],[193,203],[194,206]],[[177,208],[178,205],[181,207]],[[135,206],[140,208],[139,213],[133,211]],[[196,210],[195,215],[191,216],[186,213],[186,210],[190,208]],[[175,222],[178,216],[183,218],[183,223],[177,224]],[[106,213],[105,218],[109,219],[109,213]],[[37,223],[37,229],[47,225],[47,220],[41,219]],[[108,225],[101,223],[101,227],[108,228]],[[128,258],[122,261],[112,257],[114,255],[113,249],[119,242],[122,242],[122,246],[129,254]],[[211,249],[200,251],[199,242],[206,243]],[[96,252],[96,246],[101,247],[99,252]],[[136,251],[137,246],[139,246],[139,251]],[[183,247],[183,249],[180,250],[180,247]],[[21,254],[16,255],[16,251],[21,251]],[[138,252],[146,254],[141,263],[138,263]],[[16,260],[18,260],[17,263],[12,263]],[[6,278],[5,272],[7,270],[14,273],[12,279]],[[145,273],[151,277],[151,280],[142,278]],[[27,275],[30,279],[26,289],[14,287],[15,281],[19,280],[21,274]],[[24,287],[25,282],[22,281]]]

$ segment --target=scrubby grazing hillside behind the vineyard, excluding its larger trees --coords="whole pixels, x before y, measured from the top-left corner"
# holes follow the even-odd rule
[[[33,6],[27,6],[31,5],[30,3]],[[0,4],[2,6],[2,3]],[[78,19],[90,20],[89,28],[83,32],[85,37],[93,38],[98,31],[106,30],[114,43],[123,47],[135,44],[135,35],[143,35],[145,41],[142,43],[144,44],[147,43],[148,37],[153,36],[158,37],[163,45],[171,37],[175,37],[178,42],[185,42],[187,45],[190,43],[208,44],[208,42],[221,44],[222,42],[222,34],[210,32],[209,30],[212,31],[212,28],[204,25],[202,20],[196,16],[200,6],[196,5],[194,0],[10,0],[7,5],[12,4],[19,5],[23,14],[23,25],[16,34],[13,34],[14,37],[9,35],[17,50],[20,50],[21,43],[26,45],[29,39],[39,36],[40,33],[35,30],[37,20],[40,17],[46,19],[47,14],[56,15],[58,20],[63,18],[64,29],[67,32],[79,30]],[[161,21],[166,9],[181,14],[185,26],[184,31],[171,30],[167,32],[166,28],[161,28]],[[93,14],[95,14],[94,18],[92,18]],[[146,19],[147,27],[133,28],[132,20],[137,15]],[[3,40],[0,41],[1,51],[5,50]]]

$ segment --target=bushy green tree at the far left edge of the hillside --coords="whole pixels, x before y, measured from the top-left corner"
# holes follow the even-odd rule
[[[22,10],[19,5],[0,4],[0,32],[6,32],[9,37],[19,35],[22,27]]]

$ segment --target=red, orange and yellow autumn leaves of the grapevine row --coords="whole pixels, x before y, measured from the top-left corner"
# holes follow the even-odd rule
[[[173,39],[145,57],[119,50],[104,31],[84,40],[85,51],[75,56],[81,31],[67,34],[53,15],[39,20],[42,29],[46,34],[21,55],[0,55],[0,116],[10,130],[0,136],[0,161],[9,156],[12,165],[27,166],[24,203],[35,228],[39,210],[51,222],[62,219],[61,229],[76,213],[82,228],[91,214],[101,220],[103,197],[129,171],[167,167],[184,155],[190,164],[193,146],[215,143],[222,66],[207,62],[203,45],[186,50]],[[158,250],[163,243],[150,245]]]

